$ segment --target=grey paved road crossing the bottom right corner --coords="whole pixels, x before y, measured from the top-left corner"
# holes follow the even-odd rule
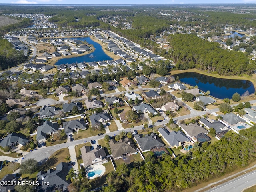
[[[241,192],[256,183],[256,170],[216,186],[207,192]]]

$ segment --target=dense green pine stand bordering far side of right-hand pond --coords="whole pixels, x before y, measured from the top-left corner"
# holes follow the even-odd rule
[[[208,42],[194,35],[170,35],[169,42],[177,70],[197,68],[227,76],[251,75],[255,70],[255,62],[244,53],[223,50],[218,43]]]

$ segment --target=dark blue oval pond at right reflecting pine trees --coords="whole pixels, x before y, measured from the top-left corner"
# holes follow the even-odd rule
[[[222,79],[211,77],[195,72],[180,73],[174,75],[179,76],[180,81],[191,86],[198,86],[204,92],[210,91],[210,95],[219,99],[232,98],[234,93],[242,95],[248,91],[250,94],[255,92],[252,82],[248,80]]]

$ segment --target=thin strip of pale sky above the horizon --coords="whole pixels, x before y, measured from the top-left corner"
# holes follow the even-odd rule
[[[256,3],[256,0],[0,0],[18,4],[196,4],[196,3]]]

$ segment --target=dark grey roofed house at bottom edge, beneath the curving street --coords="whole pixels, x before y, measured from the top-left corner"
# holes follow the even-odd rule
[[[69,168],[68,164],[60,162],[56,169],[49,169],[46,171],[40,171],[36,175],[37,181],[40,183],[45,182],[50,185],[40,185],[37,188],[37,192],[56,191],[57,189],[63,192],[68,192],[69,180],[66,180]]]

